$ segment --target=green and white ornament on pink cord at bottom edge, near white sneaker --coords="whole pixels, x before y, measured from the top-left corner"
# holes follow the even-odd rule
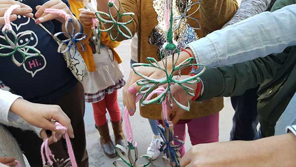
[[[113,165],[115,167],[147,167],[150,165],[152,159],[148,155],[138,156],[138,144],[134,141],[133,131],[129,121],[129,112],[126,108],[124,109],[123,120],[127,136],[127,150],[121,145],[117,144],[115,146],[115,151],[119,159]],[[124,155],[121,151],[124,152]]]

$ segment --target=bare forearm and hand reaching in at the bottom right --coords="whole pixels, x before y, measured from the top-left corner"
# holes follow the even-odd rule
[[[294,167],[296,137],[293,133],[255,141],[230,141],[193,146],[181,167]]]

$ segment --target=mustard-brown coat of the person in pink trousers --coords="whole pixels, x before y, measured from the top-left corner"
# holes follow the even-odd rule
[[[157,17],[158,14],[162,13],[162,11],[160,10],[163,10],[163,7],[161,7],[163,4],[161,3],[161,1],[162,0],[156,0],[155,2],[154,0],[120,0],[119,9],[121,13],[135,13],[135,18],[133,22],[127,26],[131,30],[133,35],[135,33],[138,33],[138,62],[147,63],[147,57],[154,57],[159,60],[159,57],[157,56],[158,46],[150,44],[149,37],[150,42],[152,42],[152,37],[150,36],[150,34],[153,31],[153,29],[158,25],[158,21],[162,20],[161,18]],[[175,6],[178,4],[177,2],[179,2],[179,0],[175,1]],[[192,0],[192,3],[194,2],[197,2],[197,0]],[[184,3],[182,4],[184,6]],[[184,9],[183,6],[181,6],[181,8]],[[155,12],[155,8],[158,12]],[[186,14],[190,15],[197,8],[198,5],[193,5]],[[175,8],[175,10],[176,9],[177,8]],[[193,35],[194,38],[205,37],[206,34],[220,29],[227,21],[229,21],[232,18],[232,16],[236,13],[237,9],[238,4],[236,0],[201,0],[199,10],[196,13],[192,14],[192,17],[197,19],[200,25],[197,25],[197,22],[193,19],[188,19],[186,22],[193,28],[200,26],[200,29],[195,30],[195,33],[189,33],[188,35]],[[175,11],[174,13],[178,12]],[[178,15],[175,15],[174,17],[176,18],[177,16]],[[131,19],[130,17],[131,16],[122,17],[119,21],[126,22]],[[108,28],[108,25],[105,25],[105,27]],[[114,31],[115,33],[116,29],[113,29],[112,31]],[[164,36],[163,33],[159,35]],[[156,37],[156,39],[159,38],[159,36],[154,37]],[[175,34],[174,38],[177,40],[180,39],[178,38],[178,34]],[[117,40],[123,41],[126,39],[123,36],[119,36]],[[155,43],[157,44],[161,42]],[[202,103],[193,102],[192,104],[190,104],[190,108],[190,114],[186,113],[182,117],[182,119],[186,120],[192,118],[199,118],[213,113],[217,113],[221,111],[223,108],[223,99],[213,98],[211,100],[206,100]],[[155,112],[151,112],[151,109],[153,109],[152,111]],[[152,104],[141,107],[140,110],[141,115],[145,118],[161,119],[161,106]]]

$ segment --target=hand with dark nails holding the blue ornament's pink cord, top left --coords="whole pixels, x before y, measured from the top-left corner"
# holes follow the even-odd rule
[[[56,19],[61,23],[65,23],[65,18],[63,18],[61,14],[45,13],[44,10],[47,8],[64,10],[67,14],[72,16],[72,19],[75,19],[69,7],[62,0],[49,0],[43,5],[36,6],[37,12],[35,13],[35,16],[38,18],[36,20],[37,24],[53,19]]]

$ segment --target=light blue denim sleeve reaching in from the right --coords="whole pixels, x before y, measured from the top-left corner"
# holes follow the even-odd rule
[[[187,45],[197,63],[220,67],[296,45],[296,4],[263,12]]]

